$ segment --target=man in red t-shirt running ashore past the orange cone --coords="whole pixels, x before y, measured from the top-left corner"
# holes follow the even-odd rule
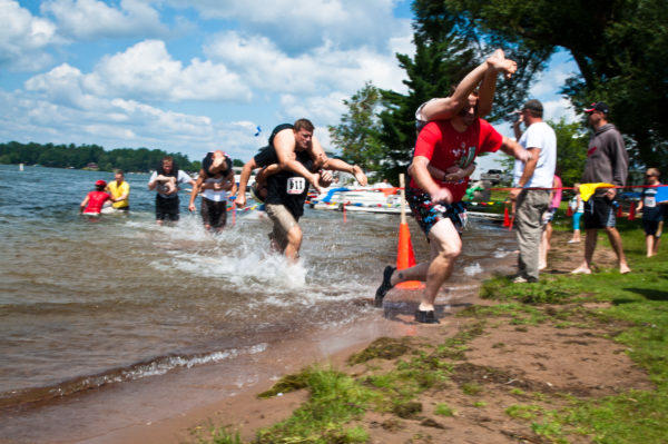
[[[469,96],[468,103],[450,120],[426,124],[418,136],[413,162],[409,168],[411,181],[406,199],[415,220],[431,246],[431,259],[394,273],[386,267],[383,284],[376,292],[376,305],[394,285],[404,280],[425,282],[415,320],[438,324],[434,299],[443,283],[452,274],[454,259],[460,255],[460,233],[466,223],[466,209],[461,203],[469,177],[450,176],[466,170],[481,152],[501,149],[517,159],[525,159],[525,150],[514,140],[501,136],[490,124],[478,117],[478,96]],[[434,171],[440,172],[434,172]],[[431,172],[430,172],[431,171]],[[446,176],[448,179],[445,178]]]

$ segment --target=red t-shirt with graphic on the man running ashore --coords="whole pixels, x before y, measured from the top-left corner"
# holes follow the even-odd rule
[[[464,132],[455,130],[450,120],[434,120],[420,131],[413,157],[426,157],[432,167],[442,171],[453,166],[463,169],[481,152],[499,150],[502,141],[503,136],[482,119],[477,119]],[[468,177],[459,181],[434,181],[452,193],[452,201],[460,201],[469,186]],[[411,187],[419,188],[413,179]]]

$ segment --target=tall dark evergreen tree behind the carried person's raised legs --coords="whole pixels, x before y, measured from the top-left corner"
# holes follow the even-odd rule
[[[409,91],[402,95],[382,90],[382,132],[380,140],[385,149],[382,170],[395,179],[404,172],[415,144],[415,110],[434,97],[446,97],[453,88],[489,57],[497,47],[507,49],[507,57],[518,61],[519,70],[511,80],[499,81],[494,108],[487,120],[509,120],[511,111],[527,99],[533,75],[544,66],[549,52],[522,52],[518,46],[502,45],[499,39],[487,43],[472,32],[469,23],[450,12],[446,2],[415,0],[414,34],[415,56],[397,55],[400,67],[406,71],[404,81]]]

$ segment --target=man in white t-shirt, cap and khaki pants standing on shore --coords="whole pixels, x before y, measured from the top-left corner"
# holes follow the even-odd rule
[[[536,99],[524,103],[513,125],[515,138],[531,154],[527,162],[515,160],[510,199],[515,201],[515,229],[520,256],[514,283],[538,282],[542,215],[550,205],[550,188],[557,166],[557,135],[543,121],[542,103]],[[527,129],[521,131],[524,122]]]

